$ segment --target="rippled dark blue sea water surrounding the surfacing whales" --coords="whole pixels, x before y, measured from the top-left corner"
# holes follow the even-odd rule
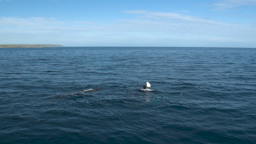
[[[2,48],[0,143],[255,144],[256,49]]]

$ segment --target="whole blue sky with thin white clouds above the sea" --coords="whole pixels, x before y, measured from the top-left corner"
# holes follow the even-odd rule
[[[0,44],[256,48],[256,0],[0,0]]]

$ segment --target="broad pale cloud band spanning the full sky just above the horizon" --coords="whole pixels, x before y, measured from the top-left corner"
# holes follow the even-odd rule
[[[255,26],[143,10],[132,19],[102,24],[42,17],[0,17],[1,43],[59,43],[66,46],[256,47]]]

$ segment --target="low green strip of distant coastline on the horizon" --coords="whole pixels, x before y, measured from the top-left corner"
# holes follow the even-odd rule
[[[0,48],[30,48],[30,47],[64,47],[63,45],[52,44],[6,44],[0,45]]]

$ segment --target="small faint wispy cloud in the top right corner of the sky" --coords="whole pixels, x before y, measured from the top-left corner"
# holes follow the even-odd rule
[[[256,5],[256,0],[220,0],[213,4],[214,10],[226,10],[239,6]]]

